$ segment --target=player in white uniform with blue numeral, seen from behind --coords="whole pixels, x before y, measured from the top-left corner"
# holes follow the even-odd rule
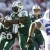
[[[29,28],[29,37],[27,42],[29,43],[32,38],[32,33],[34,32],[35,28],[45,31],[45,50],[50,50],[50,9],[46,10],[44,14],[44,18],[36,20],[30,25]]]

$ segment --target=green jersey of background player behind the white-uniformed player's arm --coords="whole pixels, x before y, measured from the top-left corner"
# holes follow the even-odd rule
[[[39,18],[41,18],[42,17],[42,15],[39,15],[38,16],[38,19]],[[38,19],[36,19],[36,17],[34,16],[34,15],[32,15],[32,17],[31,17],[31,21],[32,22],[34,22],[35,20],[38,20]],[[35,35],[35,36],[34,36]],[[38,44],[43,44],[43,41],[44,41],[44,38],[43,38],[43,36],[42,36],[42,33],[41,33],[41,31],[40,30],[38,30],[38,29],[35,29],[35,31],[34,31],[34,41],[35,42],[38,42]]]

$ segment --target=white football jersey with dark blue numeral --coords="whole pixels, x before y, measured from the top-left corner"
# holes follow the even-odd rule
[[[50,19],[38,19],[35,22],[40,22],[41,23],[41,29],[42,31],[44,31],[45,33],[43,33],[43,36],[45,36],[44,38],[48,41],[50,41]]]

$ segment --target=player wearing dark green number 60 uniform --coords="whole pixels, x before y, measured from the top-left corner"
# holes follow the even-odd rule
[[[10,19],[9,17],[6,18],[8,18],[7,20]],[[2,37],[0,42],[0,50],[10,50],[15,42],[15,38],[18,38],[17,26],[3,22],[0,28],[0,35]]]

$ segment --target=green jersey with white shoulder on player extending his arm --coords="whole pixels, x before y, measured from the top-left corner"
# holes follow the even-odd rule
[[[21,34],[24,34],[25,36],[28,36],[28,30],[29,30],[29,26],[31,24],[31,19],[30,19],[30,16],[28,15],[28,12],[27,11],[21,11],[19,14],[18,14],[19,17],[25,17],[25,20],[24,20],[24,24],[23,27],[20,27],[19,28],[19,32]]]

